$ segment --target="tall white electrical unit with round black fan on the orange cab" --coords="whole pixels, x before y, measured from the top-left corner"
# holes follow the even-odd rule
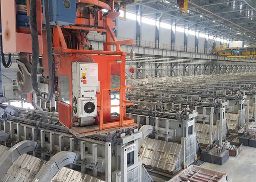
[[[72,63],[73,116],[79,119],[79,125],[93,124],[98,90],[98,64]]]

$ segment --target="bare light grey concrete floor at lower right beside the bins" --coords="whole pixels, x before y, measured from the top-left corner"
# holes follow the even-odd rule
[[[255,182],[256,181],[256,148],[243,146],[241,153],[232,157],[224,165],[205,162],[202,167],[226,172],[228,182]]]

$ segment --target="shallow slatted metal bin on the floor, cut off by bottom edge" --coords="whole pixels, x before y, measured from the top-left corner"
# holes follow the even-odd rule
[[[227,174],[195,165],[190,165],[187,169],[184,169],[177,176],[169,180],[168,182],[225,182],[227,181]]]

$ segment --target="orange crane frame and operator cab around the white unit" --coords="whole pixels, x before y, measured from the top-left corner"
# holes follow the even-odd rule
[[[43,67],[44,67],[44,76],[48,76],[48,60],[47,60],[47,44],[46,44],[46,33],[42,30],[42,21],[43,21],[43,13],[42,13],[42,0],[37,1],[37,12],[38,15],[38,32],[39,32],[39,42],[40,42],[40,53],[42,54]],[[5,6],[2,7],[2,14],[6,12],[6,15],[9,15],[12,12],[12,21],[16,23],[16,13],[15,13],[15,0],[4,1]],[[27,0],[27,10],[29,10],[29,2]],[[97,7],[98,9],[98,27],[99,28],[91,28],[94,25],[94,18],[92,15],[89,18],[81,18],[79,17],[79,12],[77,10],[77,18],[76,25],[59,27],[56,26],[53,28],[52,37],[53,37],[53,50],[54,50],[54,61],[55,61],[55,76],[59,77],[67,76],[69,78],[69,104],[58,101],[58,111],[59,111],[59,121],[68,127],[73,134],[83,134],[92,131],[105,130],[110,128],[120,128],[125,126],[134,125],[134,119],[126,117],[126,105],[132,104],[125,101],[125,89],[132,88],[125,86],[125,55],[126,52],[123,52],[120,44],[129,44],[132,45],[132,40],[124,40],[117,41],[113,28],[115,27],[113,19],[118,16],[117,12],[114,12],[114,1],[109,1],[109,4],[105,3],[106,1],[97,1],[97,0],[77,0],[76,3],[84,3],[88,5],[92,5]],[[1,2],[2,3],[2,2]],[[108,15],[103,16],[101,9],[108,10]],[[4,12],[3,12],[4,11]],[[9,12],[9,13],[7,13]],[[28,11],[29,14],[29,11]],[[8,20],[10,21],[10,16]],[[2,21],[3,22],[3,21]],[[14,30],[16,31],[16,24],[12,24],[14,26]],[[3,30],[5,30],[5,25],[3,25]],[[103,43],[103,51],[99,50],[86,50],[81,47],[78,49],[70,49],[67,46],[66,40],[64,38],[63,30],[69,29],[72,31],[96,31],[98,33],[105,33],[106,40]],[[19,30],[19,33],[25,35],[25,37],[29,40],[30,31],[29,30]],[[4,35],[5,36],[5,35]],[[4,37],[3,36],[3,37]],[[32,53],[31,45],[24,45],[20,40],[21,36],[15,36],[13,34],[9,36],[11,40],[13,40],[14,45],[18,48],[13,50],[10,44],[4,43],[4,51],[11,53]],[[5,40],[4,40],[5,41]],[[83,40],[87,42],[85,38]],[[114,45],[116,50],[111,51],[111,46]],[[6,49],[5,49],[6,48]],[[8,51],[11,50],[11,51]],[[99,123],[93,126],[84,126],[84,127],[74,127],[73,121],[76,118],[73,118],[73,106],[72,106],[72,62],[88,62],[88,58],[94,60],[94,63],[98,63],[98,79],[100,82],[100,90],[97,92],[97,111],[99,113]],[[114,64],[119,68],[118,73],[120,74],[120,87],[119,88],[111,88],[111,65]],[[58,85],[58,93],[59,93],[59,85]],[[111,105],[110,101],[110,91],[115,90],[119,92],[119,104]],[[119,107],[119,118],[111,119],[110,117],[110,109],[112,107]]]

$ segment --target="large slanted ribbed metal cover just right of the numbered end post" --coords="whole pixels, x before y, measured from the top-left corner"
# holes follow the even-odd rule
[[[146,138],[140,160],[148,167],[173,172],[177,168],[181,147],[178,143]]]

